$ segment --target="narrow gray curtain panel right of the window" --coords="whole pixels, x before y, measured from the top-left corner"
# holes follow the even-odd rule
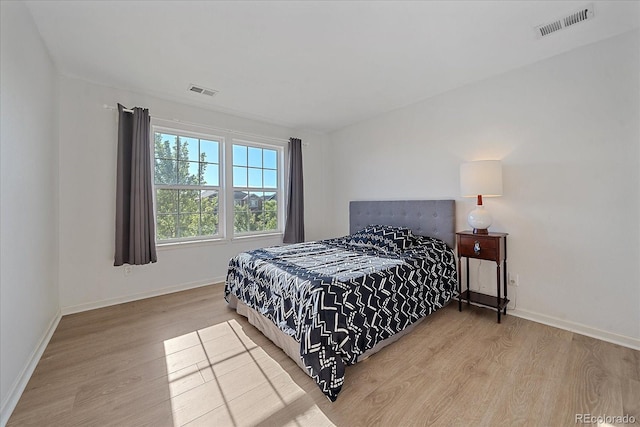
[[[302,181],[302,140],[289,138],[289,197],[284,243],[304,242],[304,185]]]

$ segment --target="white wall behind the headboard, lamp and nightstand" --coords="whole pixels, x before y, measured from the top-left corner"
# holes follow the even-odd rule
[[[626,33],[331,134],[330,234],[346,233],[357,199],[456,198],[457,229],[468,229],[474,201],[458,196],[459,165],[502,159],[504,196],[485,205],[491,229],[510,233],[518,312],[637,346],[639,39]]]

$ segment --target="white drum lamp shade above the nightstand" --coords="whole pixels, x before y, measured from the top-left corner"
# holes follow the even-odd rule
[[[462,197],[502,196],[502,163],[500,160],[479,160],[460,165]]]

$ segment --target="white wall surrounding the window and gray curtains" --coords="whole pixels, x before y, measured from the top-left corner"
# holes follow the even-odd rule
[[[297,132],[169,102],[153,96],[60,78],[60,302],[63,313],[86,310],[222,280],[240,251],[282,242],[281,237],[162,248],[158,262],[125,276],[113,267],[118,102],[149,108],[153,117],[288,139],[306,145],[308,238],[322,234],[326,191],[316,175],[325,163],[324,135]],[[321,197],[313,197],[319,194]],[[320,225],[318,225],[320,224]]]

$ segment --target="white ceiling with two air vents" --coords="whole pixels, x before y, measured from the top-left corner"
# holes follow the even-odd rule
[[[636,1],[27,1],[58,70],[331,132],[640,26]],[[190,83],[218,90],[213,98]]]

